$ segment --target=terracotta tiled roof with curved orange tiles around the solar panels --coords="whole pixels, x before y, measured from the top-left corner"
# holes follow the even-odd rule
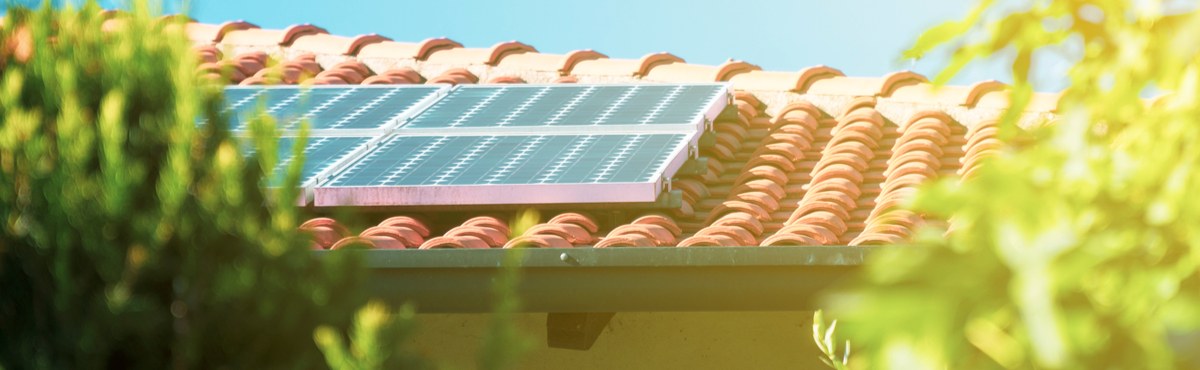
[[[191,23],[187,31],[202,73],[227,71],[242,85],[730,82],[736,89],[737,115],[714,124],[716,143],[701,153],[707,169],[673,180],[683,191],[678,210],[600,225],[580,209],[515,238],[506,220],[486,215],[451,222],[396,215],[366,229],[325,217],[300,226],[325,249],[893,244],[923,222],[899,209],[914,186],[971,177],[997,148],[995,120],[1008,106],[1001,83],[935,90],[907,71],[881,78],[827,66],[762,71],[734,60],[688,64],[668,53],[547,54],[517,41],[467,48],[448,38],[336,36],[308,24]],[[1036,94],[1026,120],[1052,115],[1056,103],[1057,95]]]

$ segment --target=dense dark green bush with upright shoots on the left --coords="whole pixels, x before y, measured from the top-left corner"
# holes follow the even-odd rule
[[[181,24],[14,7],[0,53],[0,365],[324,364],[313,329],[348,324],[364,269],[312,258],[300,161],[263,190],[274,125],[239,154]]]

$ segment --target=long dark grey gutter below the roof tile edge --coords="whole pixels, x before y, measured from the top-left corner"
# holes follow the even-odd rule
[[[520,256],[522,312],[796,311],[875,247],[746,246],[367,250],[370,291],[419,312],[492,312],[493,281]],[[322,255],[325,252],[316,252]]]

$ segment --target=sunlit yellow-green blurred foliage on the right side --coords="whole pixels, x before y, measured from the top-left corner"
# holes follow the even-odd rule
[[[835,298],[853,368],[1200,366],[1198,348],[1170,339],[1200,330],[1200,14],[1178,7],[983,1],[922,36],[910,56],[954,53],[938,82],[1015,55],[1009,143],[1036,56],[1079,61],[1054,123],[979,177],[918,193],[913,207],[948,219],[948,234],[874,256],[864,284]]]

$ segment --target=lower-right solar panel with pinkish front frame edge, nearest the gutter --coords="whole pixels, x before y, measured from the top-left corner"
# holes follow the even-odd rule
[[[394,136],[316,205],[654,202],[694,133]]]

